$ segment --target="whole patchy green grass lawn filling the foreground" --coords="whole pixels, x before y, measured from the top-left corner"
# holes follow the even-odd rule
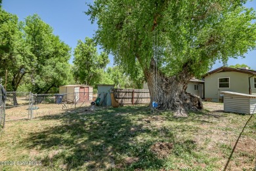
[[[146,106],[74,109],[6,123],[0,170],[223,170],[250,115],[205,111],[173,118]],[[228,170],[253,170],[256,116],[236,145]],[[20,166],[17,161],[40,161]]]

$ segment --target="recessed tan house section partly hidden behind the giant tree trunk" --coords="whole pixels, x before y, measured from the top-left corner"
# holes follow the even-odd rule
[[[186,92],[196,94],[196,96],[203,98],[203,83],[204,81],[199,79],[190,79],[188,87],[186,88]],[[148,89],[148,83],[143,84],[143,89]]]

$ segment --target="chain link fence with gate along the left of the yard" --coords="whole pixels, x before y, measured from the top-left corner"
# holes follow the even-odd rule
[[[1,111],[5,111],[6,121],[16,121],[64,113],[68,109],[87,107],[91,102],[93,102],[93,93],[89,92],[66,94],[7,92],[6,105]]]

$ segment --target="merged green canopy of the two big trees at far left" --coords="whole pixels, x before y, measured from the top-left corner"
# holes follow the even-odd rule
[[[18,22],[17,16],[0,10],[0,77],[7,69],[7,90],[16,91],[24,79],[29,81],[27,90],[37,93],[68,83],[70,47],[53,28],[37,14]]]

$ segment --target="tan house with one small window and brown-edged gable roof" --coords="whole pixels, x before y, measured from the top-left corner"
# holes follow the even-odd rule
[[[219,67],[204,75],[205,99],[223,102],[222,91],[256,94],[256,71],[248,68]]]

